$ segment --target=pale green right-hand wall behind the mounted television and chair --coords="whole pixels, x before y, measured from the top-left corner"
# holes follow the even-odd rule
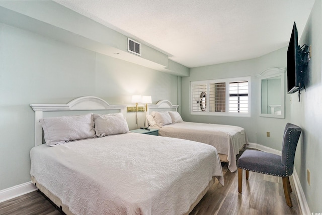
[[[295,155],[295,168],[311,212],[322,212],[322,1],[316,0],[306,23],[299,45],[312,45],[306,91],[291,95],[291,122],[303,129]],[[310,185],[307,183],[310,170]]]

